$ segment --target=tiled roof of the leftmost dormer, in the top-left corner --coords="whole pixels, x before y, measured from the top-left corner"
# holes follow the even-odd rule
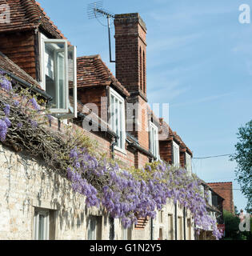
[[[10,6],[10,24],[0,23],[0,33],[7,31],[30,30],[42,28],[54,38],[64,35],[54,22],[46,15],[40,4],[35,0],[0,0],[0,5]]]

